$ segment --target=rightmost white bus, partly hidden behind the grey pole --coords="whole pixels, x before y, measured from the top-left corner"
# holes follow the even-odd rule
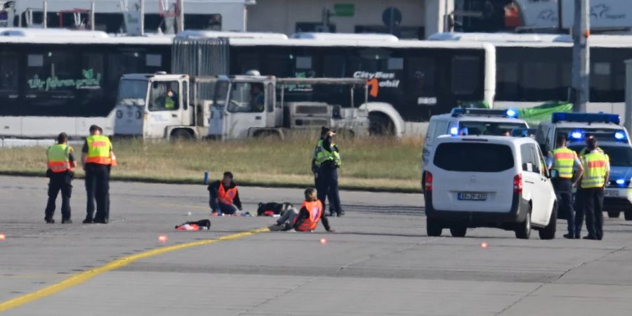
[[[572,78],[572,38],[559,34],[443,33],[430,40],[490,43],[496,47],[496,107],[530,107],[567,101]],[[593,35],[589,112],[624,114],[625,63],[632,36]]]

